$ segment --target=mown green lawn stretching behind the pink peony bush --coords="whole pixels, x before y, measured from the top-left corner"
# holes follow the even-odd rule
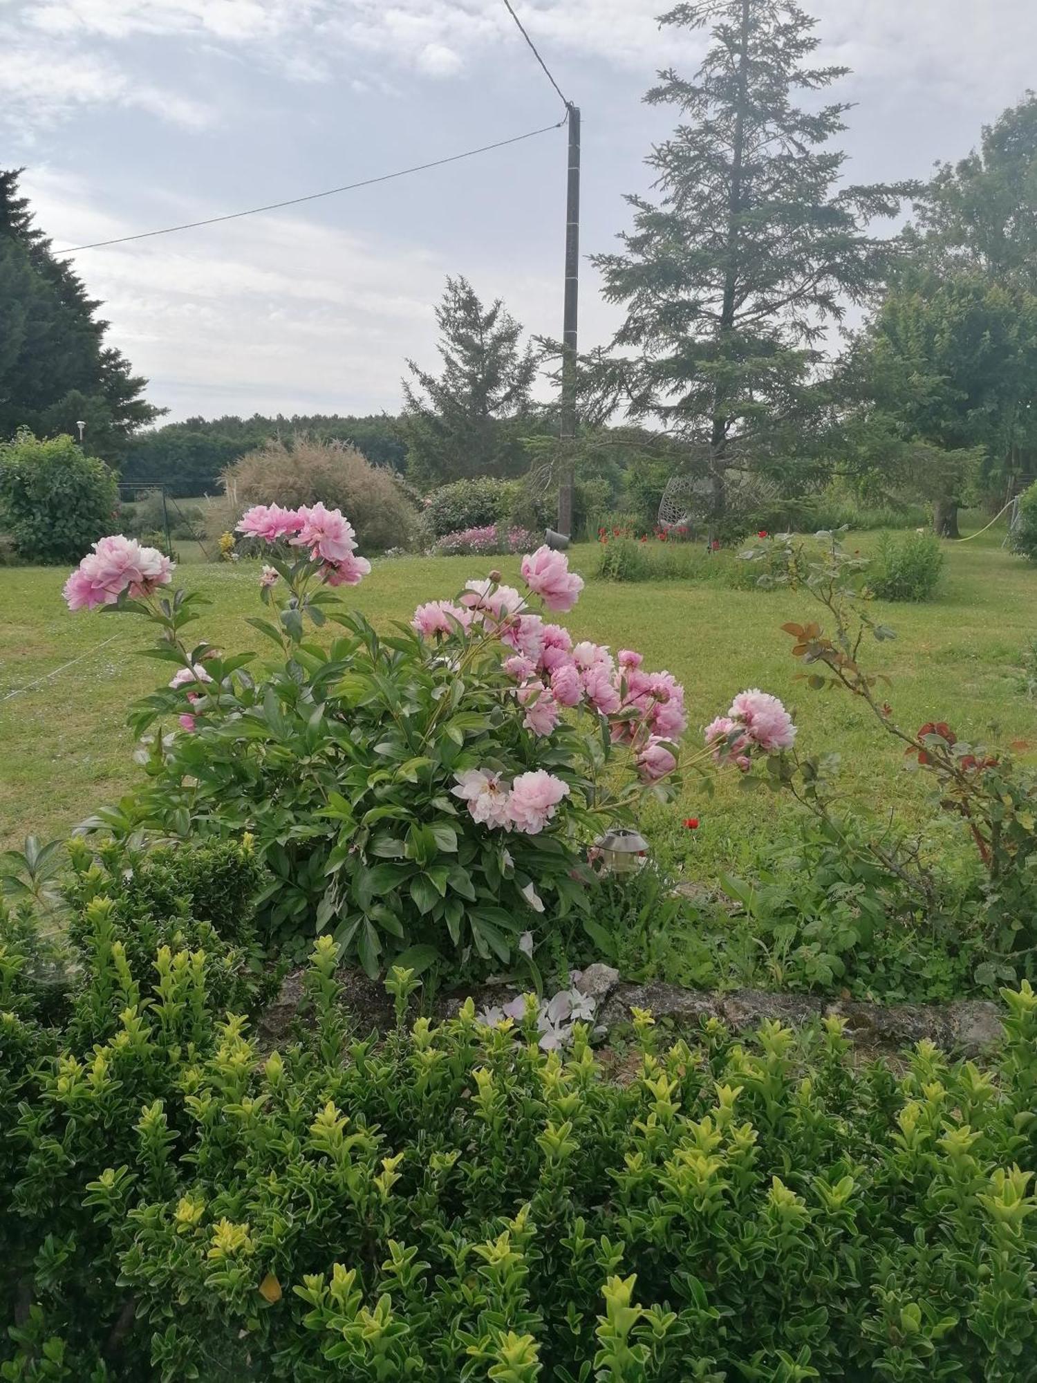
[[[1004,743],[1037,736],[1037,703],[1012,678],[1020,651],[1037,633],[1037,568],[1012,557],[993,530],[975,542],[949,545],[947,570],[936,602],[886,606],[882,618],[897,642],[868,650],[878,671],[893,678],[897,716],[911,727],[949,721],[969,740]],[[866,545],[870,539],[863,538]],[[452,595],[491,559],[400,559],[377,561],[371,578],[347,599],[376,624],[408,618],[415,604]],[[506,579],[514,559],[501,559]],[[593,570],[595,552],[577,548],[572,566]],[[155,685],[160,665],[136,657],[149,638],[142,620],[69,614],[61,599],[64,573],[0,568],[0,841],[14,844],[35,831],[66,831],[98,805],[137,781],[133,743],[124,725],[129,701]],[[214,600],[196,625],[199,638],[230,650],[257,649],[245,625],[259,613],[257,568],[185,566],[191,589]],[[725,711],[747,686],[774,692],[798,708],[801,744],[838,750],[848,790],[881,808],[919,812],[921,784],[903,770],[861,707],[849,698],[813,694],[794,682],[796,664],[787,620],[810,615],[810,602],[790,592],[729,591],[719,584],[611,585],[589,581],[567,622],[581,638],[613,649],[635,647],[651,668],[669,668],[687,689],[691,732]],[[72,667],[64,667],[77,660]],[[61,671],[59,671],[61,669]],[[28,683],[47,678],[11,696]],[[693,851],[695,871],[733,862],[745,842],[773,831],[785,804],[737,791],[726,779],[708,798],[695,779],[676,806],[653,808],[650,834],[668,849]],[[680,830],[684,816],[701,819],[694,838]]]

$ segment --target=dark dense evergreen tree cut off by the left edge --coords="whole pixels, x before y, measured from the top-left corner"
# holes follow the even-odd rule
[[[33,225],[21,171],[0,170],[0,437],[18,427],[75,436],[83,420],[91,452],[113,461],[160,409],[141,397],[147,380],[104,344],[101,304]]]

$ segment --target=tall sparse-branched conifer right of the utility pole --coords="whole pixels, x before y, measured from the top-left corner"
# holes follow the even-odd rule
[[[648,166],[658,202],[630,196],[624,253],[600,254],[604,295],[626,307],[607,366],[630,416],[691,444],[719,521],[731,467],[785,470],[812,444],[825,331],[886,271],[892,245],[868,236],[910,191],[837,188],[843,155],[824,145],[845,104],[803,111],[845,68],[812,68],[813,21],[792,0],[694,0],[661,24],[712,26],[694,80],[673,71],[646,100],[680,123]]]

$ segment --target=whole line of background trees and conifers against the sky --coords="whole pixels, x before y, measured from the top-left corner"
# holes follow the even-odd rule
[[[697,479],[715,524],[747,483],[796,494],[838,474],[867,496],[929,499],[953,535],[962,501],[1005,496],[1036,469],[1037,97],[928,181],[857,185],[838,147],[849,106],[817,100],[848,69],[816,64],[798,4],[693,0],[660,22],[709,41],[693,76],[666,69],[647,93],[675,129],[648,154],[653,191],[628,198],[617,250],[593,257],[622,324],[579,360],[577,473],[650,455]],[[407,362],[397,416],[142,431],[158,415],[145,382],[104,346],[98,304],[17,181],[0,174],[0,436],[84,419],[126,479],[181,494],[297,431],[351,441],[422,490],[552,465],[557,416],[534,384],[560,347],[525,340],[460,275],[437,308],[440,364]]]

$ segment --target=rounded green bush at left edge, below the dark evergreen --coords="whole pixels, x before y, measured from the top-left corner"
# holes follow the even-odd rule
[[[71,437],[19,431],[0,443],[0,526],[22,561],[79,561],[112,531],[119,508],[113,473]]]

